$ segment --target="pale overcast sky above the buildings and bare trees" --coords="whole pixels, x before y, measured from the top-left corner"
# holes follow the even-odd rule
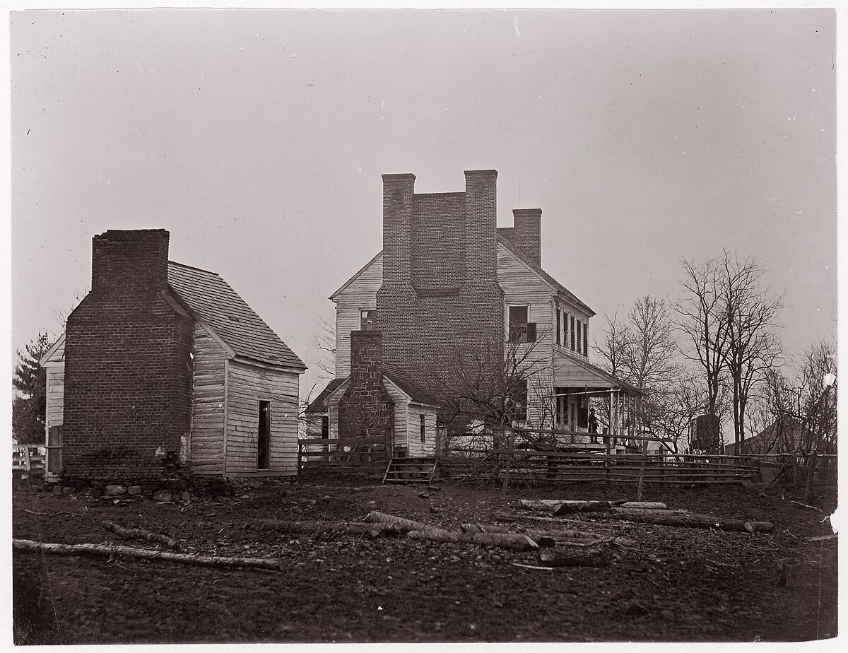
[[[595,335],[722,248],[785,294],[789,352],[835,335],[832,10],[41,11],[10,40],[14,348],[59,332],[94,234],[163,227],[314,365],[381,174],[481,168],[499,226],[543,209]]]

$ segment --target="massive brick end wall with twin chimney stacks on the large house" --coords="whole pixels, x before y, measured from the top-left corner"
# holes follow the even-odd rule
[[[415,176],[383,176],[383,355],[420,380],[456,371],[455,352],[502,343],[495,170],[466,171],[464,193],[415,195]]]

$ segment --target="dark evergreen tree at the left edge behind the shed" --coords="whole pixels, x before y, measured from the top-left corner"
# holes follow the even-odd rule
[[[18,365],[14,368],[12,385],[12,434],[20,444],[44,442],[44,410],[47,397],[47,375],[38,364],[53,340],[46,332],[18,350]]]

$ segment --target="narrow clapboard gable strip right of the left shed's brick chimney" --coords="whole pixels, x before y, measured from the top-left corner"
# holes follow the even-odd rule
[[[192,472],[224,473],[224,368],[226,352],[199,322],[194,324]]]

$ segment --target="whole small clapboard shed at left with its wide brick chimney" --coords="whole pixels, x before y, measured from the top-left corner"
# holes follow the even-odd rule
[[[304,363],[220,276],[167,250],[164,230],[94,237],[92,292],[42,359],[47,478],[142,480],[166,459],[296,474]]]

